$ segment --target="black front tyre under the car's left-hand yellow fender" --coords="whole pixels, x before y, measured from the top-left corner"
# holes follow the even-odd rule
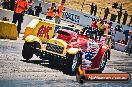
[[[29,60],[33,57],[33,50],[27,42],[25,42],[23,45],[22,56],[26,60]]]

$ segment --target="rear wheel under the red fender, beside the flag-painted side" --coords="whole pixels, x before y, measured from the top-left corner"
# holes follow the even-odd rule
[[[102,73],[102,71],[104,70],[106,62],[107,62],[107,58],[108,58],[108,55],[109,55],[108,53],[109,52],[106,51],[105,54],[103,55],[103,57],[101,59],[101,62],[100,62],[99,70],[97,71],[98,73]]]

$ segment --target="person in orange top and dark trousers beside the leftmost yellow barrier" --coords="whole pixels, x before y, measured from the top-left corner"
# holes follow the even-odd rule
[[[18,25],[17,25],[18,37],[21,31],[21,24],[23,22],[24,12],[26,9],[28,9],[28,7],[29,5],[26,0],[17,0],[15,3],[12,23],[16,24],[16,22],[18,21]]]

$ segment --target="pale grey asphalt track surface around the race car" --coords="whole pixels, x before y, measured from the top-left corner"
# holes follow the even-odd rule
[[[79,84],[75,76],[65,73],[63,67],[49,65],[35,55],[29,61],[22,58],[22,38],[0,39],[0,87],[132,87],[129,83],[86,82]],[[112,50],[111,60],[103,73],[132,74],[132,55]]]

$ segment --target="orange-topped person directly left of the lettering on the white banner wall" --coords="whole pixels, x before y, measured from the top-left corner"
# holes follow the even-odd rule
[[[58,8],[56,10],[55,23],[60,24],[64,11],[65,11],[64,3],[61,3],[60,5],[58,5]]]

